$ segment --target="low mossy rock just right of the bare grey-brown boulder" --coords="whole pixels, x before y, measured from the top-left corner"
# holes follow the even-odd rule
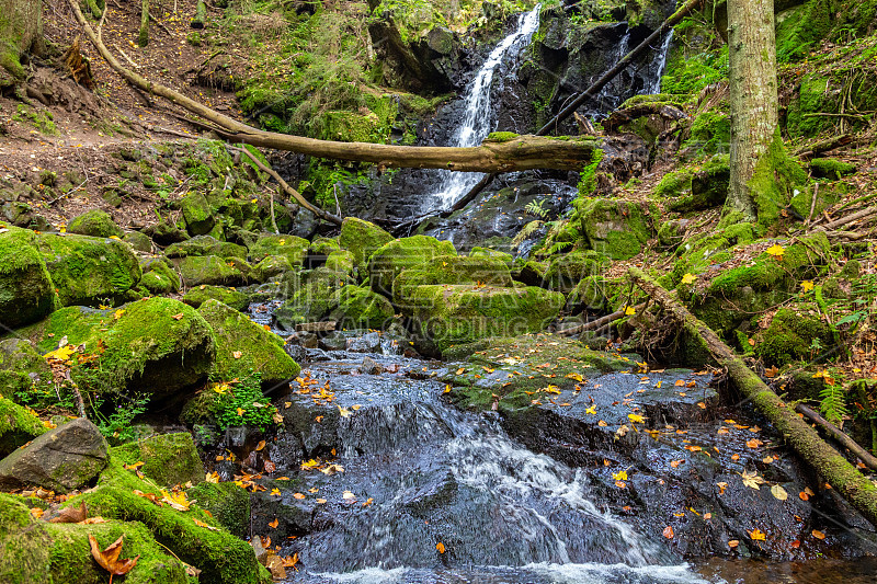
[[[159,434],[111,449],[125,465],[143,462],[140,472],[160,486],[204,482],[204,465],[187,432]]]

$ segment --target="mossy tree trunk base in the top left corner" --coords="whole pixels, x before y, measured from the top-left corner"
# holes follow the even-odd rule
[[[0,87],[24,81],[21,56],[43,45],[42,0],[0,0]]]

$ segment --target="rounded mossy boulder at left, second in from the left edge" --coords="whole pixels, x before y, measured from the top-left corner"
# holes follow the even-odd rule
[[[62,306],[118,304],[143,276],[122,241],[45,233],[37,237],[37,249]]]

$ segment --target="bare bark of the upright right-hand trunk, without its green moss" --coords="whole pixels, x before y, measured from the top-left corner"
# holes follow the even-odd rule
[[[731,182],[728,205],[758,217],[760,163],[770,163],[778,124],[776,33],[773,0],[728,0],[728,56],[731,98]]]

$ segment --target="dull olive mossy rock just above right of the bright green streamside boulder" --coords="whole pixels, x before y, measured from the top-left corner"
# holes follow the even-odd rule
[[[303,322],[317,322],[338,307],[338,293],[353,280],[343,272],[328,267],[311,271],[304,283],[296,277],[284,280],[289,299],[274,311],[277,325],[286,331]]]

